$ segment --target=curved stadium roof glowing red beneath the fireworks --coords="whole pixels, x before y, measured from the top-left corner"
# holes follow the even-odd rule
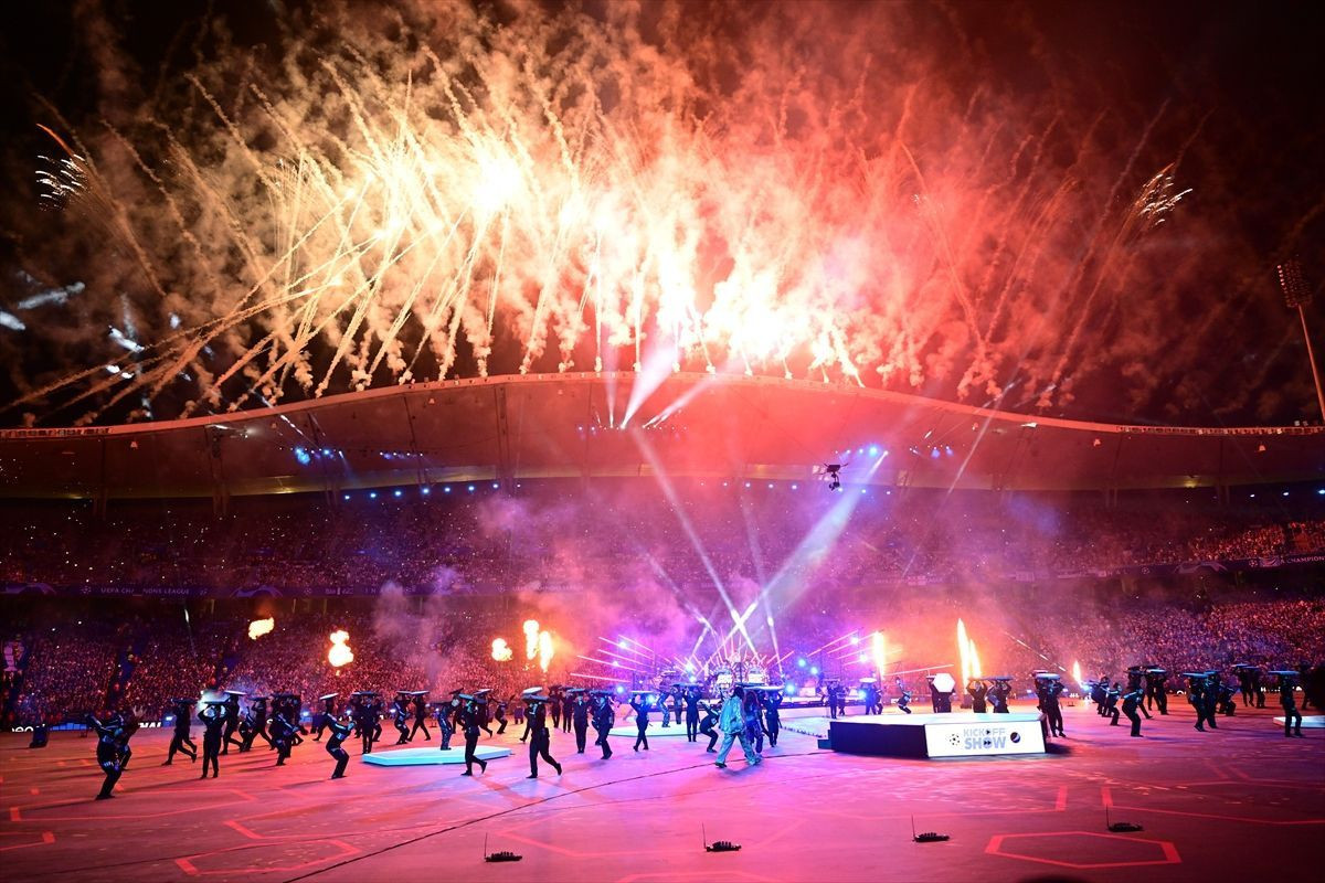
[[[219,499],[660,471],[804,481],[829,462],[847,463],[847,483],[986,490],[1325,477],[1320,426],[1080,422],[765,377],[676,373],[651,393],[647,383],[629,372],[448,380],[227,417],[3,430],[0,496]]]

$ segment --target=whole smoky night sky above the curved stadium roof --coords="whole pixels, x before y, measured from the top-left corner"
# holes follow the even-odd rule
[[[582,293],[636,273],[713,330],[659,356],[686,371],[1118,422],[1320,421],[1276,282],[1300,259],[1321,361],[1318,4],[17,5],[0,13],[3,426],[220,413],[403,372],[629,368],[633,314],[604,306],[595,327]],[[360,249],[334,285],[314,275],[337,256],[317,228],[277,265],[297,283],[262,277],[314,228],[282,177],[295,156],[334,201],[372,152],[355,101],[378,134],[408,118],[443,181],[423,209],[390,188],[404,203],[384,208],[372,184],[358,213],[337,204],[342,242],[403,228],[362,324],[347,310],[294,343],[294,301],[204,340],[250,287],[307,297],[386,266],[387,246]],[[62,158],[38,124],[90,155],[95,199],[38,180]],[[498,220],[466,216],[469,262],[449,242],[458,257],[423,261],[408,244],[449,222],[437,207],[493,150],[519,180]],[[288,224],[294,204],[307,218]],[[651,224],[665,233],[636,242]],[[411,287],[458,279],[468,301],[423,330]],[[670,314],[645,297],[649,363]]]

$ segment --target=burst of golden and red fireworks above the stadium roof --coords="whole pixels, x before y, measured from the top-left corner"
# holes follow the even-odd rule
[[[159,397],[187,416],[604,367],[996,395],[1012,372],[1057,384],[1063,327],[1097,318],[1083,298],[1128,290],[1117,225],[1083,222],[1113,204],[1077,195],[1093,144],[1007,139],[1000,97],[902,87],[863,57],[859,82],[787,91],[799,53],[779,46],[820,33],[800,4],[746,23],[753,75],[730,94],[696,78],[713,60],[641,45],[637,23],[498,25],[464,5],[390,42],[331,16],[337,33],[290,37],[261,86],[235,85],[252,53],[219,53],[187,74],[187,114],[48,130],[40,180],[72,229],[44,257],[113,242],[83,299],[131,318],[136,348],[121,364],[89,338],[109,352],[9,405],[90,422]],[[886,25],[885,5],[857,24]],[[1060,123],[1031,124],[1047,142]],[[1169,168],[1143,187],[1129,229],[1161,224],[1174,187]],[[1016,297],[1031,289],[1063,294]]]

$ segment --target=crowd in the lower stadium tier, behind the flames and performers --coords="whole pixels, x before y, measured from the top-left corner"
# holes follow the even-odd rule
[[[583,600],[564,601],[570,621]],[[454,688],[490,687],[498,696],[513,696],[533,684],[600,683],[583,678],[586,673],[624,674],[586,659],[596,653],[594,639],[586,635],[562,635],[560,655],[543,673],[537,661],[521,653],[523,647],[514,639],[521,637],[521,614],[502,598],[405,605],[358,600],[337,613],[276,612],[274,629],[256,639],[246,634],[249,613],[201,613],[186,621],[180,605],[154,604],[155,608],[127,620],[110,606],[99,616],[85,614],[82,621],[62,627],[36,627],[20,635],[19,641],[32,653],[26,654],[19,692],[9,703],[8,723],[30,723],[49,715],[78,720],[107,703],[152,720],[168,710],[175,696],[221,688],[250,695],[289,690],[303,698],[305,707],[311,707],[317,696],[329,692],[346,698],[354,690],[376,690],[390,699],[396,690],[427,688],[433,691],[433,699],[440,699]],[[1071,674],[1075,662],[1080,663],[1084,678],[1101,674],[1117,678],[1128,666],[1145,663],[1181,673],[1228,669],[1234,663],[1296,667],[1300,662],[1318,665],[1325,659],[1321,598],[1232,601],[1199,608],[1157,601],[1069,605],[1044,592],[1039,602],[1018,605],[1023,612],[1006,613],[996,622],[987,612],[965,604],[967,627],[978,639],[986,675],[1026,678],[1035,669]],[[767,657],[771,674],[780,669],[800,687],[814,687],[823,676],[851,682],[877,674],[869,654],[869,629],[844,629],[841,610],[829,614],[810,606],[799,620],[786,620],[780,631],[780,666],[772,662],[774,654]],[[949,635],[962,606],[963,601],[957,598],[934,601],[912,594],[873,612],[857,609],[848,616],[886,627],[888,670],[910,671],[909,679],[920,683],[922,675],[916,669],[954,662],[955,642]],[[329,634],[335,629],[350,633],[354,651],[354,661],[339,669],[327,661]],[[843,641],[851,631],[855,639]],[[513,659],[492,658],[496,634],[511,638]],[[755,637],[761,645],[766,641],[765,634]],[[662,657],[686,658],[689,647],[655,650]],[[702,657],[704,653],[698,658]],[[125,659],[132,665],[129,676],[121,678]],[[641,666],[641,671],[647,669]],[[122,684],[118,692],[117,684]],[[1179,686],[1177,679],[1174,686]]]

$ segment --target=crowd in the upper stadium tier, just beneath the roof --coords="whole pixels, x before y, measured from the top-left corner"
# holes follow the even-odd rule
[[[117,503],[105,518],[77,503],[7,512],[0,581],[61,590],[229,594],[504,590],[539,582],[620,581],[648,560],[677,584],[710,571],[763,581],[835,508],[848,507],[825,582],[1031,580],[1155,565],[1325,553],[1325,496],[1216,504],[1195,491],[1151,492],[1105,507],[1094,495],[1049,499],[983,491],[693,482],[668,498],[652,482],[547,482],[505,490],[444,486],[238,500]],[[757,485],[757,483],[751,483]],[[474,490],[469,490],[473,487]],[[795,490],[794,490],[795,488]],[[848,488],[856,494],[857,488]],[[400,496],[396,496],[400,494]]]

